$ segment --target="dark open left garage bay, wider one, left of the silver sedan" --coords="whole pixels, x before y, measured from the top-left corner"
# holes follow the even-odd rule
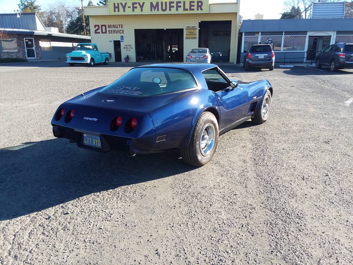
[[[135,29],[136,61],[183,61],[183,29]]]

